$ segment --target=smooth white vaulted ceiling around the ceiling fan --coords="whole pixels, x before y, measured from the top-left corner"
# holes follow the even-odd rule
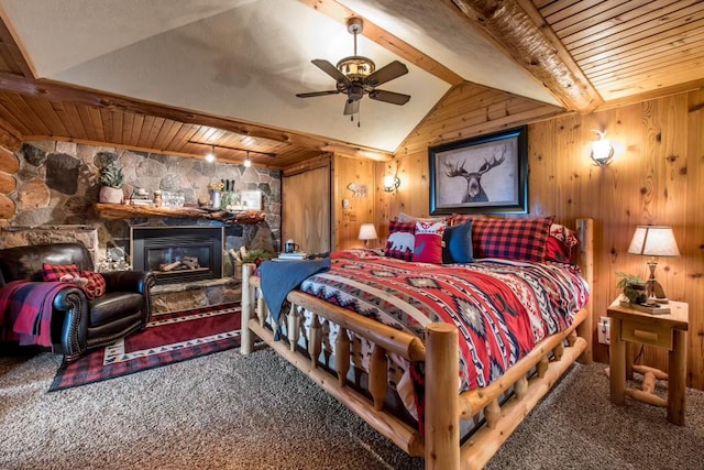
[[[339,0],[468,81],[556,105],[547,90],[444,2]],[[298,0],[0,0],[6,22],[37,78],[232,117],[351,144],[395,151],[450,84],[360,36],[377,68],[409,73],[380,89],[405,106],[345,97],[301,99],[334,89],[310,63],[353,55],[345,26]]]

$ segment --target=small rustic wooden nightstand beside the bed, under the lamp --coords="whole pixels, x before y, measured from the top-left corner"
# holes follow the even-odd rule
[[[610,326],[610,397],[623,405],[628,395],[656,406],[667,406],[668,420],[684,426],[684,392],[686,389],[686,330],[690,327],[689,306],[670,302],[669,314],[652,315],[623,307],[618,298],[608,307]],[[631,348],[638,342],[669,350],[668,372],[646,365],[634,365]],[[642,390],[626,387],[626,376],[632,371],[644,373]],[[668,380],[668,400],[653,395],[654,380]]]

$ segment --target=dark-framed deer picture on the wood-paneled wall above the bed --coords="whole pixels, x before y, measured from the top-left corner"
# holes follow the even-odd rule
[[[521,127],[428,150],[430,214],[528,212],[528,138]]]

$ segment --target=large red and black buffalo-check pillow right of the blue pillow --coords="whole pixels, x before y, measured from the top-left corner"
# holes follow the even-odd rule
[[[546,245],[553,217],[535,219],[474,219],[474,258],[546,261]]]

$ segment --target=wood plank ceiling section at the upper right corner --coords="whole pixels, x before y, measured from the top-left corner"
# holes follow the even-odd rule
[[[605,101],[693,81],[701,86],[701,0],[534,1]]]

